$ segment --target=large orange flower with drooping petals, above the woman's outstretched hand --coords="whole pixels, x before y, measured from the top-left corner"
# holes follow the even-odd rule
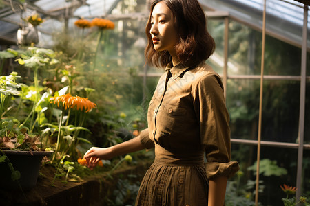
[[[57,104],[58,107],[59,107],[60,102],[63,103],[63,106],[65,106],[65,109],[76,107],[77,110],[81,110],[81,111],[85,109],[85,112],[89,112],[92,108],[97,107],[96,104],[94,104],[87,98],[81,98],[79,96],[72,97],[70,93],[61,95],[56,98],[50,98],[50,103]]]

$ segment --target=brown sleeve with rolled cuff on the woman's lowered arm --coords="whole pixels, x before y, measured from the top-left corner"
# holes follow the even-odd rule
[[[231,161],[229,113],[219,76],[212,74],[200,78],[194,107],[200,119],[200,141],[205,146],[208,179],[233,176],[239,170],[239,165]]]

